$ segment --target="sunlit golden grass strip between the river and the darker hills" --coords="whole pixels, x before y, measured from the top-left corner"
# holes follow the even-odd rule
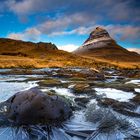
[[[102,69],[140,68],[140,62],[117,62],[99,58],[81,57],[64,51],[47,54],[33,53],[29,57],[0,55],[0,68],[89,67]]]

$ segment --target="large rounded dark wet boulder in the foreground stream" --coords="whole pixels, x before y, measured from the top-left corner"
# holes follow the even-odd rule
[[[44,94],[37,88],[16,93],[5,103],[8,104],[6,116],[16,125],[59,124],[72,113],[61,97]]]

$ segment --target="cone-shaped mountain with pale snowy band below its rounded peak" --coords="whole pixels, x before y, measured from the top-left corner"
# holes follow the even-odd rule
[[[139,54],[130,52],[118,45],[102,27],[96,27],[83,45],[73,53],[106,60],[140,62]]]

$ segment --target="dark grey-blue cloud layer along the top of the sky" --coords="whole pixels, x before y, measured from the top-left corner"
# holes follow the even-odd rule
[[[90,20],[133,23],[140,21],[139,3],[139,0],[7,0],[9,10],[19,16],[51,11],[62,15],[81,13]]]

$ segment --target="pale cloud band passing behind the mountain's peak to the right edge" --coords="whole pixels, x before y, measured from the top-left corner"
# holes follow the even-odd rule
[[[132,25],[98,25],[93,24],[92,26],[81,26],[77,27],[70,31],[57,31],[53,30],[48,35],[49,36],[61,36],[61,35],[71,35],[71,34],[78,34],[78,35],[89,35],[91,31],[93,31],[97,26],[101,26],[105,28],[110,35],[117,41],[127,41],[131,43],[135,43],[140,37],[140,27],[135,27]],[[44,30],[45,31],[45,30]]]

